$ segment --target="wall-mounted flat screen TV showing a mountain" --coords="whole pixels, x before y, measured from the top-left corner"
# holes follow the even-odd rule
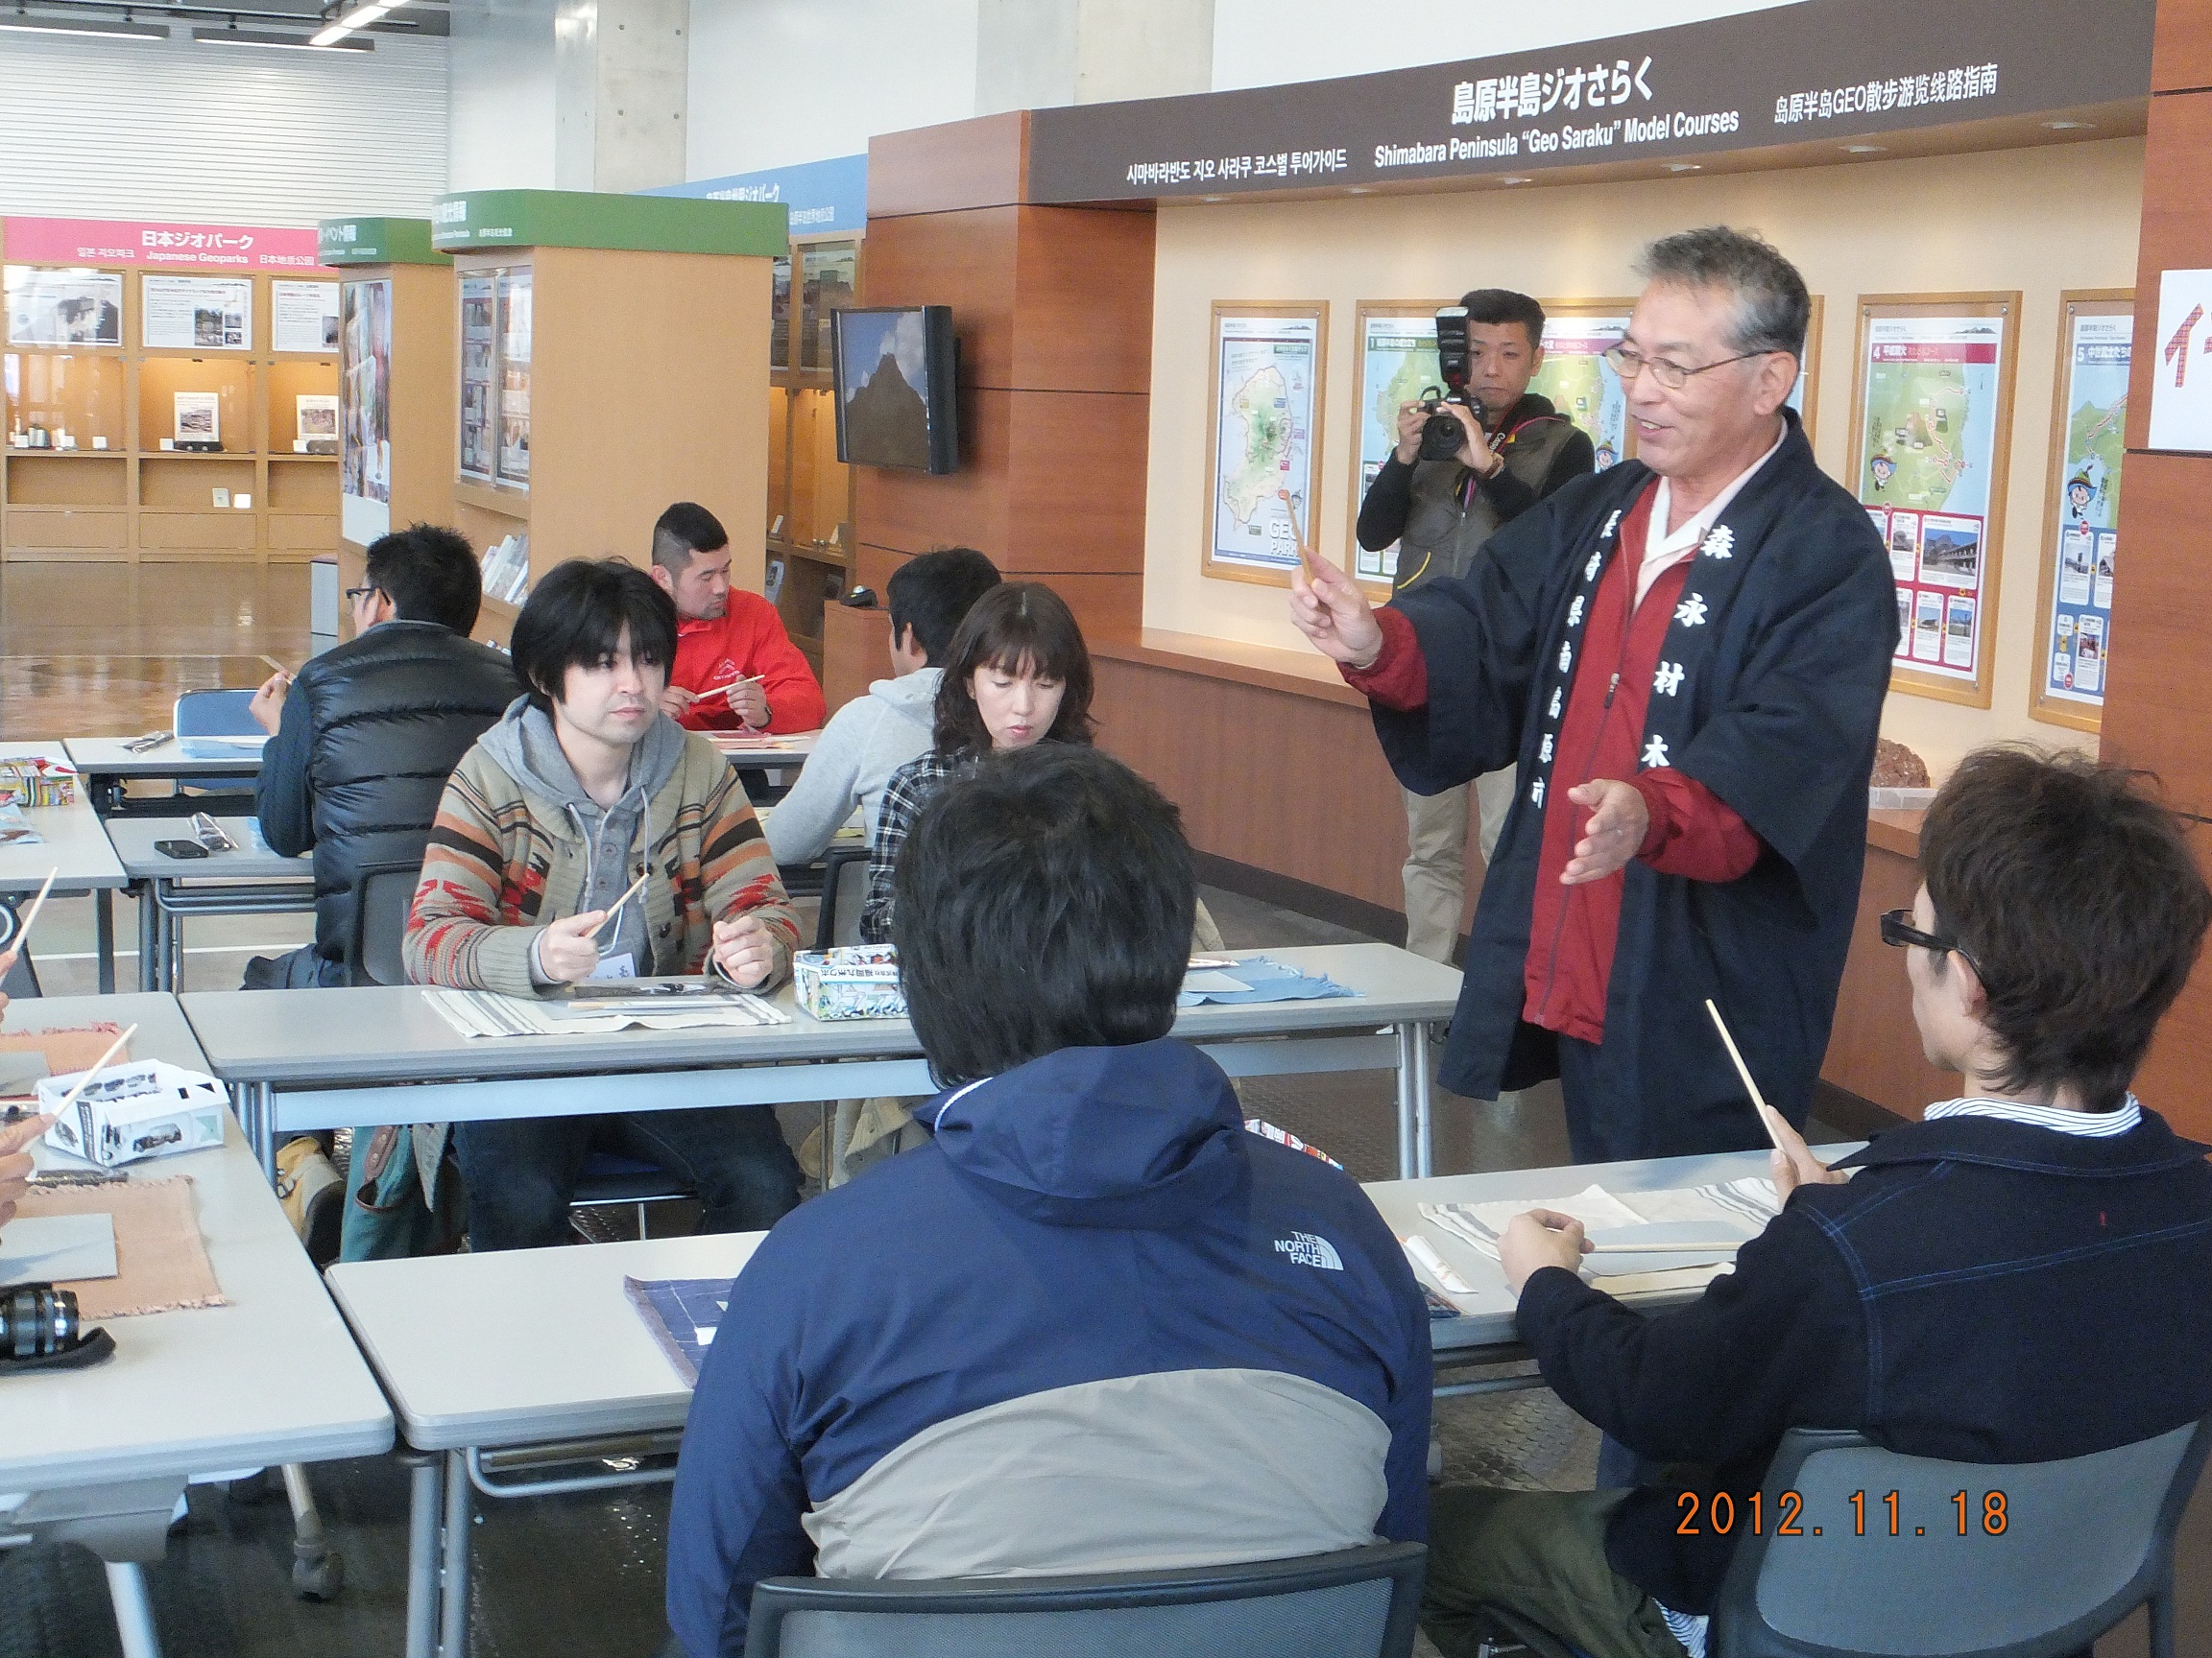
[[[951,305],[830,312],[836,458],[856,466],[960,466]]]

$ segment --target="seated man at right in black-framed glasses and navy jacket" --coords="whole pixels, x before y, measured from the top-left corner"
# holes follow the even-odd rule
[[[1781,1216],[1655,1318],[1577,1276],[1577,1220],[1506,1227],[1544,1382],[1655,1475],[1433,1492],[1422,1618],[1444,1654],[1473,1651],[1486,1601],[1590,1658],[1703,1654],[1747,1525],[1683,1519],[1719,1492],[1750,1514],[1792,1426],[2020,1463],[2212,1408],[2212,1167],[2130,1092],[2212,920],[2181,820],[2086,756],[1980,749],[1929,807],[1920,875],[1882,940],[1905,946],[1920,1050],[1960,1099],[1834,1169],[1783,1130]]]

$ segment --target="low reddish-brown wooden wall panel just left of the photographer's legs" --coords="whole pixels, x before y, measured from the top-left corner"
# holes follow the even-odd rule
[[[1099,747],[1183,809],[1192,847],[1405,911],[1405,809],[1363,710],[1148,663],[1095,665]]]

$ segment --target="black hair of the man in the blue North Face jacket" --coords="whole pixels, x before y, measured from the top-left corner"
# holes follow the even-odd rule
[[[1175,1026],[1190,842],[1175,805],[1113,756],[1037,743],[947,778],[896,882],[898,979],[940,1085]]]

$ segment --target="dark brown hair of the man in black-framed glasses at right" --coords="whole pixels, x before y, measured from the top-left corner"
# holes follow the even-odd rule
[[[2146,772],[1986,747],[1936,794],[1920,875],[1989,999],[2008,1090],[2117,1110],[2197,964],[2212,891]],[[1938,957],[1936,970],[1949,968]]]

